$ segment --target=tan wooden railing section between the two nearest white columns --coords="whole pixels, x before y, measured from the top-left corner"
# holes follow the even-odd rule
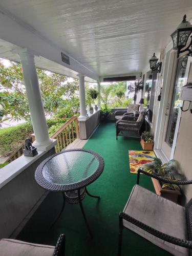
[[[58,131],[52,136],[52,139],[57,139],[55,151],[60,152],[63,148],[79,138],[79,126],[77,116],[71,117],[65,124],[63,124]]]

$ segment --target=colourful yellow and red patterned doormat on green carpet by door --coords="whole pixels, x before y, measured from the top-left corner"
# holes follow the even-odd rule
[[[137,174],[137,170],[141,168],[143,164],[152,162],[153,157],[155,157],[153,151],[129,150],[130,173]]]

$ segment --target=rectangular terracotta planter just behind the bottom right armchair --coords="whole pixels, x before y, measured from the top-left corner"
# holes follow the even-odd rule
[[[178,203],[178,197],[181,195],[179,190],[170,190],[161,187],[161,184],[158,180],[152,178],[152,182],[158,196],[164,197],[168,200],[171,200],[175,203]]]

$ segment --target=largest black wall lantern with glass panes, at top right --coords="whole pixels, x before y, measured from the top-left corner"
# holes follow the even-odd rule
[[[187,40],[192,32],[192,25],[186,21],[186,14],[183,16],[183,20],[181,24],[177,27],[176,31],[174,31],[170,36],[173,39],[174,50],[177,50],[177,57],[179,54],[185,51],[188,51],[188,55],[191,54],[190,46],[192,45],[192,37],[190,44],[186,47]],[[182,48],[186,47],[184,50]]]

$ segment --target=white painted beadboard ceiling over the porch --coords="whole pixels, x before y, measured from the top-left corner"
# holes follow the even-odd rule
[[[191,0],[1,0],[1,5],[99,76],[142,72],[183,15],[192,17]]]

